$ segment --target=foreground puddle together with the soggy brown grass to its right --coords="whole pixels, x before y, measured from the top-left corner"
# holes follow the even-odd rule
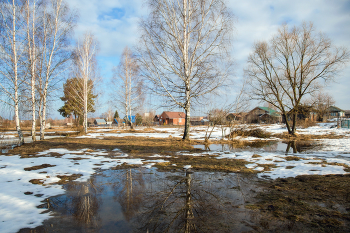
[[[111,169],[65,184],[38,206],[52,218],[19,232],[346,232],[349,178]]]

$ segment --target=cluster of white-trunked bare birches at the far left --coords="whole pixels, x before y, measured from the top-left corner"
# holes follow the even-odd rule
[[[65,72],[76,16],[63,0],[7,0],[0,4],[0,100],[14,109],[21,143],[20,108],[36,117],[44,139],[49,94]]]

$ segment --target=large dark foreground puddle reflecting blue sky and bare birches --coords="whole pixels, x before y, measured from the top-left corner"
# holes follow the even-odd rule
[[[53,217],[35,232],[253,231],[258,212],[244,206],[258,191],[256,180],[254,174],[106,170],[46,199],[40,208]]]

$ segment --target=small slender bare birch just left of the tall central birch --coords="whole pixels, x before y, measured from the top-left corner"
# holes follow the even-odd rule
[[[131,117],[143,104],[145,87],[139,73],[135,55],[125,47],[113,77],[113,83],[119,89],[116,100],[124,109],[125,116]]]

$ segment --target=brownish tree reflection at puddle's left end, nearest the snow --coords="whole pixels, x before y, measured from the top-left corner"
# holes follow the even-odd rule
[[[101,219],[98,216],[100,200],[97,194],[102,191],[102,188],[95,185],[93,178],[88,182],[70,182],[65,185],[65,188],[67,190],[65,200],[50,198],[49,209],[73,216],[75,221],[86,229],[93,228],[95,231],[99,228],[101,225]]]

